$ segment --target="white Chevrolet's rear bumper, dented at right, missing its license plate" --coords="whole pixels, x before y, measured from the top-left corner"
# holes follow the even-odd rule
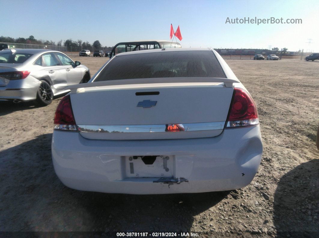
[[[225,129],[214,138],[174,140],[90,140],[77,132],[54,131],[52,160],[67,187],[105,193],[200,193],[247,186],[262,157],[259,125]],[[168,155],[180,183],[130,178],[126,156]]]

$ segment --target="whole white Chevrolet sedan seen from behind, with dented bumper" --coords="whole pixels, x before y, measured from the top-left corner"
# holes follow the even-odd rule
[[[199,193],[245,187],[257,173],[256,104],[212,49],[121,53],[69,89],[52,138],[54,169],[67,187]]]

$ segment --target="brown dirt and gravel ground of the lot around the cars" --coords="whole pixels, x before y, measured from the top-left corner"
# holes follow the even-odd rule
[[[108,58],[72,57],[93,75]],[[263,160],[234,191],[126,195],[77,191],[51,160],[51,105],[0,103],[0,231],[197,232],[319,236],[319,61],[226,60],[256,101]]]

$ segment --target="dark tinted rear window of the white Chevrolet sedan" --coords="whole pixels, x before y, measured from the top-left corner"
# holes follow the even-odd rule
[[[115,56],[94,82],[172,77],[226,78],[212,51],[169,51]]]

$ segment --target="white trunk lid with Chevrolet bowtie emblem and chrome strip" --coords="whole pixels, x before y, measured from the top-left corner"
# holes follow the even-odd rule
[[[218,82],[153,83],[82,88],[70,98],[85,138],[186,139],[223,131],[233,91]]]

